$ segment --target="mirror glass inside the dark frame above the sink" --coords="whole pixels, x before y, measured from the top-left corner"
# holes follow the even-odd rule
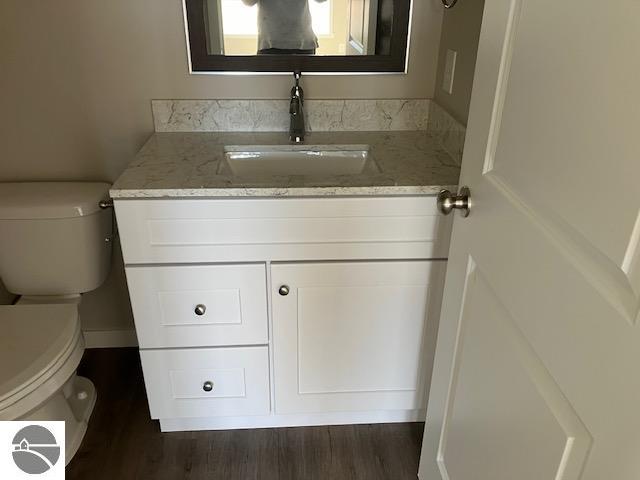
[[[209,55],[388,55],[393,0],[205,0]]]

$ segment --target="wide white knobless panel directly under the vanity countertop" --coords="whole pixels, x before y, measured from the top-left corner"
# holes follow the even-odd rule
[[[125,262],[443,258],[435,197],[116,200]]]

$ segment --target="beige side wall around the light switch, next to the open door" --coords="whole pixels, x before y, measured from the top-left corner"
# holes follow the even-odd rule
[[[465,125],[469,116],[483,9],[484,0],[460,0],[454,8],[445,11],[442,21],[435,99]],[[458,52],[451,95],[441,88],[448,49]]]

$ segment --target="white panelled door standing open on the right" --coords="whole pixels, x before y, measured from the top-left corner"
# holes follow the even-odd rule
[[[637,0],[486,2],[423,480],[640,478],[639,47]]]

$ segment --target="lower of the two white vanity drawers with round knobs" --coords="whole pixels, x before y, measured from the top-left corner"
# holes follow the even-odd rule
[[[140,358],[151,418],[269,414],[267,347],[141,350]]]

